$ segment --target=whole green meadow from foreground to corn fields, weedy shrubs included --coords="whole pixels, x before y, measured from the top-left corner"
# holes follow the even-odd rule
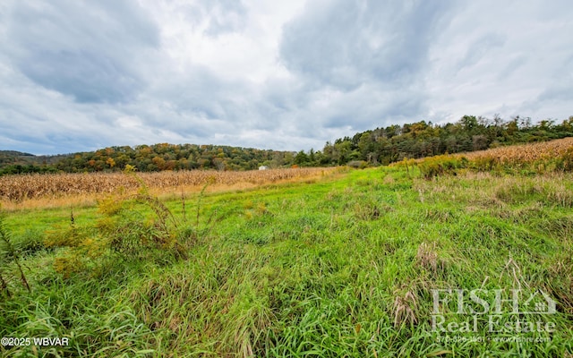
[[[0,354],[569,356],[563,153],[5,200]]]

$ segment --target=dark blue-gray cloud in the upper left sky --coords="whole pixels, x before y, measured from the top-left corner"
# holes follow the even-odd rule
[[[17,2],[7,34],[22,73],[84,103],[133,99],[144,87],[138,59],[158,46],[155,25],[128,2]]]

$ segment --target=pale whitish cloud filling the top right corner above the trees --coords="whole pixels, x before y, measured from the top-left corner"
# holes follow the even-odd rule
[[[571,115],[568,101],[543,106],[540,99],[556,87],[567,90],[563,78],[571,83],[572,13],[570,4],[554,1],[473,2],[460,8],[431,47],[431,111],[448,120],[496,113],[506,119]]]

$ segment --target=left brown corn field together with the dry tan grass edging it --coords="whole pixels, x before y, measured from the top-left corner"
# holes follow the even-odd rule
[[[249,189],[268,183],[308,181],[333,172],[335,168],[296,168],[246,172],[181,171],[139,173],[86,173],[56,175],[6,175],[0,177],[3,209],[49,208],[64,205],[94,205],[101,194],[135,192],[141,183],[150,192],[173,195],[199,192],[209,183],[210,192]],[[139,180],[138,180],[139,178]]]

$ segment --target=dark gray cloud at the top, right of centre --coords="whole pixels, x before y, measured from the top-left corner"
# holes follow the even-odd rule
[[[446,2],[310,2],[286,25],[280,55],[306,79],[340,90],[415,79]]]

